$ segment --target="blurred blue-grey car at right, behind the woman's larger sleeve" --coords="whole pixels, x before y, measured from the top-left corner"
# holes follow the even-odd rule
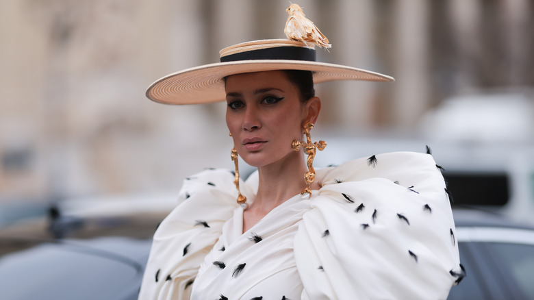
[[[476,210],[454,214],[467,276],[448,299],[534,299],[534,227]]]

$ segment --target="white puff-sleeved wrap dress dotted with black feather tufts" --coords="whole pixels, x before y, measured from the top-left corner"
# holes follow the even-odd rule
[[[186,179],[158,227],[139,299],[446,299],[461,279],[448,192],[429,154],[317,170],[242,234],[233,174]],[[257,174],[241,182],[253,201]]]

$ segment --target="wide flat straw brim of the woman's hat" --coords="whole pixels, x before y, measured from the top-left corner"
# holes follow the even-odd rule
[[[238,60],[188,68],[162,77],[149,86],[147,97],[166,104],[199,104],[223,101],[226,98],[224,77],[240,73],[274,70],[312,71],[315,84],[335,80],[394,81],[393,77],[380,73],[325,62]]]

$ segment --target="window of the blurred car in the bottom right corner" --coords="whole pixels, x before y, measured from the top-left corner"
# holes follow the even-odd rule
[[[488,242],[487,249],[510,282],[534,299],[534,245]]]

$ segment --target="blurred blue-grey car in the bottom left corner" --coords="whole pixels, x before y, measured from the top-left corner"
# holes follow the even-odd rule
[[[137,299],[150,240],[61,240],[0,259],[1,299]]]

